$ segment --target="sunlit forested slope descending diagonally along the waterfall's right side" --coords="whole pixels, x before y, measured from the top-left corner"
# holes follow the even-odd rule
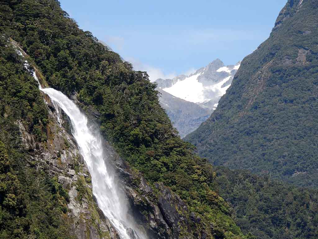
[[[156,85],[149,82],[146,72],[134,71],[131,64],[122,62],[118,54],[100,44],[92,33],[80,30],[55,0],[2,1],[0,30],[4,44],[9,38],[17,41],[51,87],[77,98],[83,109],[97,110],[105,138],[133,170],[139,171],[150,184],[162,182],[179,195],[187,208],[180,214],[190,224],[174,235],[245,237],[232,220],[229,206],[213,191],[211,182],[215,173],[211,165],[193,154],[193,146],[180,139],[159,104]],[[19,72],[16,74],[22,77]],[[30,72],[24,74],[31,79]],[[3,91],[13,94],[4,83],[5,76],[1,78]],[[36,82],[33,90],[39,95]],[[38,108],[43,101],[33,103],[24,91],[18,96],[38,112],[34,119],[30,118],[32,114],[18,115],[17,119],[28,120],[31,132],[38,137],[45,135],[45,128],[37,123],[45,115],[45,108]],[[20,102],[19,98],[10,100]],[[5,103],[3,107],[6,108]],[[23,111],[24,107],[19,109]],[[2,111],[3,117],[4,114]],[[41,122],[45,124],[45,120]],[[138,178],[134,182],[139,185]],[[152,198],[159,197],[157,191],[154,188]],[[0,201],[1,206],[5,201],[6,198]],[[147,212],[140,213],[147,218]],[[200,219],[196,220],[197,217]],[[0,222],[0,227],[5,228],[3,223],[6,221]],[[60,224],[56,223],[58,227]],[[39,230],[47,235],[44,229]],[[10,232],[8,236],[12,238]],[[58,238],[56,234],[50,236]]]

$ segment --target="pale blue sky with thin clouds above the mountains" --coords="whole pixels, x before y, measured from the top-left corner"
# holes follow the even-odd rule
[[[287,0],[60,0],[79,27],[151,80],[216,58],[235,64],[267,39]]]

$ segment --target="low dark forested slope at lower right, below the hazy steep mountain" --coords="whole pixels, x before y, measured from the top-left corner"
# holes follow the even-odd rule
[[[316,238],[318,191],[297,188],[247,170],[213,168],[218,193],[234,209],[243,232],[262,239]]]

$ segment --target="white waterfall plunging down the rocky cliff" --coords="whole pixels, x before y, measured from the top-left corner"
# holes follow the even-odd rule
[[[33,76],[39,83],[35,73]],[[98,206],[112,222],[122,239],[132,239],[128,235],[127,229],[132,228],[135,233],[137,229],[134,223],[128,220],[127,199],[117,190],[114,170],[107,165],[107,156],[103,150],[103,140],[100,133],[95,132],[93,127],[88,127],[86,116],[62,92],[52,88],[42,88],[40,83],[39,89],[46,93],[53,104],[59,106],[71,119],[72,134],[91,174],[93,194],[97,199]],[[58,111],[58,107],[56,110]],[[136,237],[144,239],[144,236],[140,234],[139,232]]]

